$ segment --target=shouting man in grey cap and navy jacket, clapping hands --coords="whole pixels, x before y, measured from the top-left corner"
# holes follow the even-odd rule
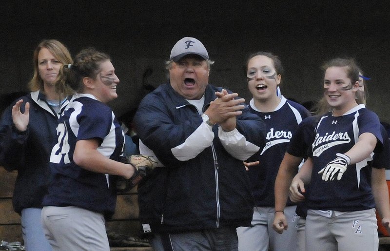
[[[213,63],[199,40],[177,41],[169,82],[144,97],[135,116],[141,154],[163,166],[138,188],[155,250],[237,250],[236,228],[251,224],[242,161],[263,148],[265,126],[243,98],[208,83]]]

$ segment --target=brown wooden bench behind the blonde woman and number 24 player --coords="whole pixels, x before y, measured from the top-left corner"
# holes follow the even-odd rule
[[[20,227],[20,215],[12,207],[17,172],[7,172],[0,166],[0,241],[20,241],[23,243]],[[113,218],[106,222],[107,232],[116,232],[137,237],[140,226],[138,222],[137,187],[117,195],[117,207]],[[152,248],[124,247],[112,248],[112,251],[151,251]]]

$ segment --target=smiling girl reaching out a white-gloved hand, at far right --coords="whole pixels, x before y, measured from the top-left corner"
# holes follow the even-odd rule
[[[303,183],[310,181],[306,250],[378,250],[375,202],[384,225],[390,221],[388,164],[383,164],[389,158],[382,154],[389,151],[386,132],[373,112],[356,103],[355,62],[336,58],[323,69],[324,97],[332,110],[316,124],[310,157],[294,178],[301,180],[295,198],[302,196],[298,188],[304,191]]]

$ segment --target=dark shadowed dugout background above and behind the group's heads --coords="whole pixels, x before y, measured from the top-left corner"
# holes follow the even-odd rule
[[[247,101],[244,65],[253,52],[281,58],[282,93],[301,103],[321,97],[324,60],[355,58],[371,78],[368,107],[390,122],[389,5],[388,0],[0,0],[0,94],[5,100],[4,95],[26,91],[34,48],[42,39],[59,39],[72,56],[93,46],[112,57],[120,83],[110,106],[122,116],[166,81],[164,62],[176,41],[195,37],[215,60],[210,83]]]

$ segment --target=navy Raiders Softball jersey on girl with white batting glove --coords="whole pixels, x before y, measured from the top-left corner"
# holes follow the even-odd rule
[[[382,148],[382,134],[378,116],[364,105],[352,108],[343,116],[322,116],[315,129],[312,143],[312,177],[308,208],[315,210],[361,211],[375,207],[370,187],[368,161],[349,165],[341,180],[324,181],[318,172],[324,168],[337,153],[348,152],[357,142],[359,135],[371,133],[378,139]]]

